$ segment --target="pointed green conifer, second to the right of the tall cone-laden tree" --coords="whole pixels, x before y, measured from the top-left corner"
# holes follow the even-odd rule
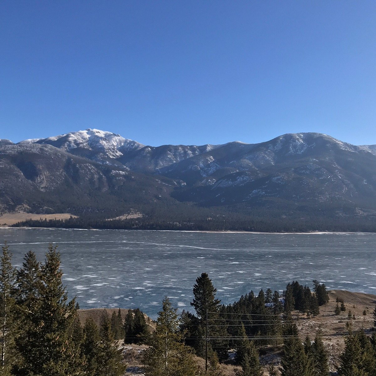
[[[98,376],[122,376],[126,370],[122,350],[111,332],[107,312],[102,315],[100,327],[100,346],[97,355]]]

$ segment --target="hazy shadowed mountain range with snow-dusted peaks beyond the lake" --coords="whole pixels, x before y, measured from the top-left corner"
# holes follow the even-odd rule
[[[151,147],[96,129],[18,144],[0,140],[0,176],[5,210],[27,205],[112,215],[106,207],[146,211],[161,200],[243,214],[299,207],[374,216],[376,210],[376,146],[319,133],[215,146]]]

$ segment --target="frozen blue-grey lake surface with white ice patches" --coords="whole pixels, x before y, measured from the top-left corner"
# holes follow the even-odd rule
[[[206,272],[222,303],[250,290],[284,290],[312,279],[330,289],[376,293],[376,234],[209,233],[1,228],[13,264],[33,250],[44,261],[58,244],[64,284],[81,308],[140,307],[155,317],[165,296],[190,309],[195,279]]]

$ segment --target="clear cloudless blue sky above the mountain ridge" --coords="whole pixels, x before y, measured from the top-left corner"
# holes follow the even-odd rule
[[[0,2],[0,138],[376,144],[376,2]]]

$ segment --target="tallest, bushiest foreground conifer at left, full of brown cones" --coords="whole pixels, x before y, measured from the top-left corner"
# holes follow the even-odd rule
[[[23,357],[21,372],[38,376],[79,375],[82,358],[71,338],[75,301],[68,302],[61,280],[60,254],[51,244],[40,275],[40,299],[19,346]]]

